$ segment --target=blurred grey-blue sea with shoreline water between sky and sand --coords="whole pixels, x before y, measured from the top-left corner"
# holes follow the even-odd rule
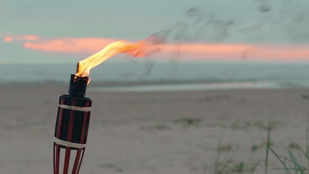
[[[1,83],[65,82],[72,64],[2,64]],[[309,87],[309,63],[106,62],[90,71],[97,91],[183,91]]]

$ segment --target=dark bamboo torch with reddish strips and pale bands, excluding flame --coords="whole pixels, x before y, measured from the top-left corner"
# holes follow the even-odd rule
[[[53,138],[54,174],[79,172],[87,142],[92,103],[91,99],[84,97],[87,82],[88,77],[72,74],[69,95],[61,95],[59,98]],[[75,156],[71,154],[72,151],[76,151]],[[60,161],[64,161],[63,164]]]

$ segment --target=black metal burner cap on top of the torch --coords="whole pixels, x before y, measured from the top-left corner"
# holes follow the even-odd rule
[[[69,96],[83,98],[86,95],[87,83],[89,77],[80,77],[75,74],[71,74]]]

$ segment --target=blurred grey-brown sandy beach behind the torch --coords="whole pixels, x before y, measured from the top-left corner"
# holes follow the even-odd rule
[[[0,85],[0,173],[52,173],[57,102],[67,90],[67,84]],[[305,149],[305,94],[308,89],[103,93],[89,88],[86,97],[93,105],[80,173],[202,174],[212,173],[215,161],[234,170],[241,162],[245,170],[259,162],[255,173],[264,173],[268,123],[276,152],[288,156],[291,140]],[[282,165],[270,153],[269,168],[276,167]]]

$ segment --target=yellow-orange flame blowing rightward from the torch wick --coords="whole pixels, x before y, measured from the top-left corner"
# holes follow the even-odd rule
[[[76,75],[82,77],[89,75],[90,69],[96,67],[97,65],[118,53],[126,52],[134,57],[146,56],[146,46],[150,46],[147,44],[146,40],[140,41],[138,43],[130,43],[126,41],[113,42],[107,45],[101,51],[78,62]]]

